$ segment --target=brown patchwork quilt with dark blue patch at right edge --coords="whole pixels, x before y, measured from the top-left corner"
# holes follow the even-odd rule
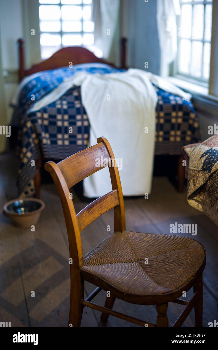
[[[218,225],[218,135],[183,147],[188,203]]]

